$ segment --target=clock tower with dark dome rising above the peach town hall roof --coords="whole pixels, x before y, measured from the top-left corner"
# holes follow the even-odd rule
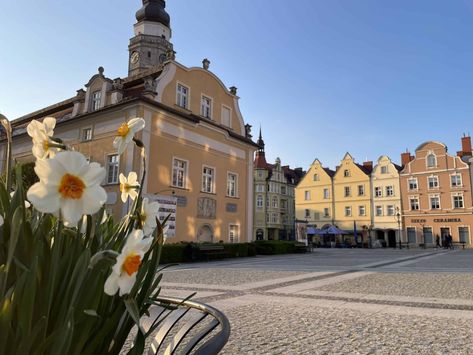
[[[171,26],[164,0],[142,0],[136,13],[135,36],[130,39],[128,76],[159,65],[172,51]]]

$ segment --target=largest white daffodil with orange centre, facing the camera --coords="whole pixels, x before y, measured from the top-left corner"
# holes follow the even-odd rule
[[[96,213],[107,200],[100,186],[105,169],[88,163],[78,152],[65,151],[52,159],[38,159],[35,165],[39,182],[30,187],[28,200],[43,213],[60,215],[74,225],[84,214]]]

